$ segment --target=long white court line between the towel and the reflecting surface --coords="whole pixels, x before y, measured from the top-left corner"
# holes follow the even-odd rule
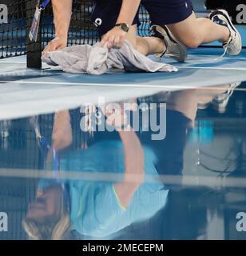
[[[237,81],[240,82],[240,81]],[[80,82],[38,82],[38,81],[2,81],[0,80],[0,86],[1,84],[8,84],[8,83],[15,83],[15,84],[30,84],[30,85],[57,85],[57,86],[93,86],[93,87],[122,87],[122,88],[148,88],[148,89],[154,89],[154,88],[160,88],[160,89],[181,89],[181,90],[185,90],[185,89],[208,89],[208,90],[218,90],[218,89],[224,89],[224,85],[227,85],[228,83],[224,83],[222,85],[214,85],[214,86],[176,86],[176,85],[172,85],[172,86],[162,86],[162,85],[153,85],[153,84],[149,84],[149,85],[141,85],[141,84],[120,84],[120,83],[115,83],[115,84],[107,84],[107,83],[80,83]],[[245,91],[246,89],[244,88],[238,88],[236,89],[238,91]]]

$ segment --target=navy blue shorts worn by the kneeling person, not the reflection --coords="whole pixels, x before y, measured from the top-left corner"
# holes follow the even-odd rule
[[[94,3],[92,21],[101,36],[115,26],[122,0],[96,0]],[[150,21],[159,26],[182,22],[193,10],[191,0],[142,0],[141,5],[149,11]],[[138,12],[132,25],[135,24],[140,24]]]

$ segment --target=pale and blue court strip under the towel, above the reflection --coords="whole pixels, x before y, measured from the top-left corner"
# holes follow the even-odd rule
[[[192,50],[188,61],[183,64],[165,58],[165,62],[179,69],[175,74],[125,74],[117,71],[101,76],[65,74],[50,69],[26,70],[25,57],[4,59],[0,62],[3,70],[0,77],[0,116],[23,117],[65,107],[76,108],[84,100],[97,101],[101,94],[109,101],[121,101],[161,90],[185,90],[245,81],[245,50],[235,58],[216,60],[221,51],[216,48]],[[16,104],[10,104],[14,102]],[[23,113],[19,111],[20,106]]]

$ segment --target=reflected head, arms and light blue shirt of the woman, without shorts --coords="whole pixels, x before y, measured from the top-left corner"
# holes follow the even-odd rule
[[[69,144],[71,130],[63,126],[69,125],[68,120],[67,112],[55,118],[59,123],[54,124],[54,146],[60,150]],[[58,127],[62,127],[62,134]],[[71,151],[61,158],[60,165],[62,171],[124,174],[121,182],[39,182],[36,202],[30,204],[24,222],[30,238],[61,239],[69,229],[106,237],[133,222],[151,218],[165,206],[168,190],[164,185],[144,183],[145,173],[157,174],[153,151],[142,147],[131,129],[119,130],[118,134],[121,140],[103,140],[87,150]],[[128,174],[136,178],[129,182]]]

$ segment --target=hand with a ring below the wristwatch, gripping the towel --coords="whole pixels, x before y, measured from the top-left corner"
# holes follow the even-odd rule
[[[112,30],[109,30],[109,32],[102,37],[101,46],[105,46],[105,44],[107,44],[109,49],[113,47],[121,48],[123,42],[125,41],[126,35],[127,32],[115,26]]]

